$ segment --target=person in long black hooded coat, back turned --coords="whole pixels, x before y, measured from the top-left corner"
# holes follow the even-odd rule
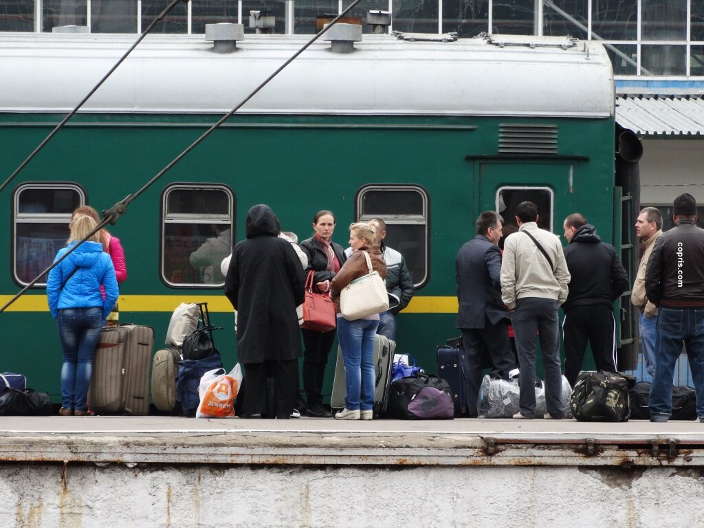
[[[243,416],[267,412],[266,377],[276,387],[275,414],[289,418],[298,389],[296,306],[303,303],[301,260],[278,238],[279,222],[269,206],[247,213],[246,240],[234,246],[225,295],[237,310],[237,356],[244,365]],[[273,418],[274,416],[268,416]]]

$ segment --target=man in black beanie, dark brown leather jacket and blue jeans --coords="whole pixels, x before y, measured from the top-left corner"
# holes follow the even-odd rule
[[[655,376],[650,386],[650,421],[672,415],[674,364],[686,346],[697,394],[697,415],[704,422],[704,230],[696,225],[691,194],[674,199],[677,224],[655,241],[646,268],[646,294],[658,306]]]

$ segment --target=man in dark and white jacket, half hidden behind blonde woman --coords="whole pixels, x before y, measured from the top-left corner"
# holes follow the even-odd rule
[[[410,299],[413,298],[415,293],[413,277],[410,276],[406,258],[384,244],[386,222],[381,218],[372,218],[369,225],[375,227],[379,251],[381,251],[384,263],[386,263],[386,292],[389,294],[389,310],[379,314],[377,334],[396,341],[396,315],[403,308],[406,308]],[[349,258],[351,254],[352,248],[347,248],[345,256]]]

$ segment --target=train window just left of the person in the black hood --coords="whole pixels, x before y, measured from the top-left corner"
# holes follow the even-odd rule
[[[224,185],[175,184],[162,196],[161,277],[172,287],[225,284],[232,253],[234,196]]]

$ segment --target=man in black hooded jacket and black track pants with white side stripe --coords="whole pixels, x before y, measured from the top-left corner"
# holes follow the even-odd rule
[[[571,386],[582,370],[586,343],[597,370],[616,372],[616,321],[613,303],[628,289],[628,274],[610,244],[601,241],[593,225],[574,213],[562,225],[569,242],[564,250],[570,271],[570,292],[562,305],[565,320],[565,377]]]

